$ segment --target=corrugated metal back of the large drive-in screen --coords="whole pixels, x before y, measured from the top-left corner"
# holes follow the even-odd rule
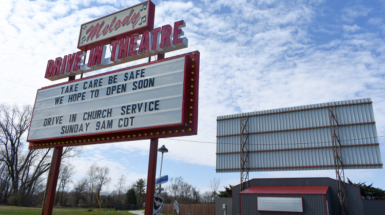
[[[242,116],[249,117],[249,171],[334,169],[328,106],[336,106],[344,168],[382,168],[367,98],[219,116],[217,172],[240,171]]]

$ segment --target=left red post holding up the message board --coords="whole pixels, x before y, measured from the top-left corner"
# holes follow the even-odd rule
[[[49,179],[47,203],[44,211],[45,215],[52,214],[53,203],[55,200],[57,179],[59,178],[60,163],[62,161],[62,154],[63,154],[63,147],[56,147],[53,151],[53,163],[51,163],[52,173]]]

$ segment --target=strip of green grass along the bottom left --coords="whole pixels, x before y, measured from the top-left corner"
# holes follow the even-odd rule
[[[92,211],[88,211],[92,209]],[[21,214],[21,215],[38,215],[42,211],[42,208],[36,207],[15,207],[15,206],[5,206],[0,205],[0,214]],[[68,207],[68,208],[53,208],[52,214],[74,214],[74,215],[83,215],[83,214],[118,214],[118,211],[104,211],[99,212],[99,208],[79,208],[79,207]],[[130,210],[119,211],[119,214],[128,214],[131,215]],[[138,215],[135,213],[135,210],[132,210],[132,214]]]

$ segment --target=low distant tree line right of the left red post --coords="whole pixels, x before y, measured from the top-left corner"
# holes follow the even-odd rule
[[[107,185],[111,178],[105,173],[109,173],[108,167],[100,167],[96,163],[92,164],[87,170],[86,175],[73,183],[73,188],[68,189],[66,182],[71,182],[65,176],[72,175],[70,167],[63,167],[56,191],[55,205],[61,206],[111,206],[115,203],[138,204],[144,207],[146,198],[146,179],[138,179],[132,184],[126,184],[126,176],[122,174],[113,190],[109,190]],[[99,169],[99,170],[98,170]],[[103,170],[104,169],[104,170]],[[105,170],[107,169],[107,171]],[[68,174],[69,173],[69,174]],[[100,175],[102,174],[102,175]],[[215,197],[218,197],[219,179],[214,178],[210,181],[210,190],[201,192],[197,187],[184,181],[182,177],[172,177],[168,185],[163,184],[164,190],[161,192],[163,203],[172,204],[175,200],[181,204],[214,204]],[[96,198],[98,197],[98,198]]]

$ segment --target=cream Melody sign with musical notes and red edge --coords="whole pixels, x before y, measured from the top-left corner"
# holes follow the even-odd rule
[[[153,28],[154,15],[155,5],[147,1],[85,23],[80,28],[78,48],[87,51],[112,40],[142,34]]]

